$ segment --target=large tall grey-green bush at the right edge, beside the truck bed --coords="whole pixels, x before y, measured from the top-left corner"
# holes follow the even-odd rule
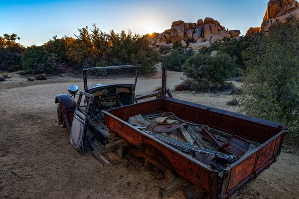
[[[247,71],[239,97],[240,112],[288,125],[299,140],[299,20],[271,26],[252,36],[242,54]]]

